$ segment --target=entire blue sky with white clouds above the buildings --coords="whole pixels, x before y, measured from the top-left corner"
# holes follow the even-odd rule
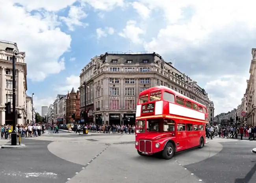
[[[26,52],[27,94],[35,93],[39,112],[78,87],[81,69],[95,55],[147,50],[175,60],[197,80],[217,114],[237,107],[245,93],[256,2],[209,2],[0,0],[0,39]]]

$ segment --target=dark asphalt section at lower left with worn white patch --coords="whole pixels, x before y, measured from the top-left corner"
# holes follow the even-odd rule
[[[65,183],[82,165],[50,153],[50,141],[22,139],[24,148],[0,149],[0,183]]]

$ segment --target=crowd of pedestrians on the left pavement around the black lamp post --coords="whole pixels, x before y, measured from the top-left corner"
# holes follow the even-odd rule
[[[17,136],[24,137],[37,137],[41,136],[45,133],[45,129],[47,126],[44,124],[26,124],[26,125],[16,125],[15,131],[17,133]],[[11,139],[11,132],[12,128],[11,125],[2,125],[1,131],[0,131],[0,137],[1,139]]]

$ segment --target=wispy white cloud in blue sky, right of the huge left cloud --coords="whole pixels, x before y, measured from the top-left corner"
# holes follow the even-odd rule
[[[67,24],[70,31],[74,31],[74,26],[85,27],[89,25],[81,21],[83,18],[87,17],[83,8],[83,6],[70,6],[68,17],[59,17]]]

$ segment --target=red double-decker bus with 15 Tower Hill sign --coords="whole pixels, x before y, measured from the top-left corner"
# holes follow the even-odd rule
[[[139,94],[135,148],[139,155],[159,153],[164,159],[189,148],[203,148],[208,121],[205,105],[168,87],[152,87]]]

